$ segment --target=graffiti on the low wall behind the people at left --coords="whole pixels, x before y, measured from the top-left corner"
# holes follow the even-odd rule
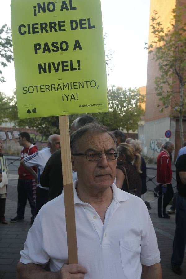
[[[13,131],[2,131],[0,130],[0,139],[1,140],[12,140],[12,139],[18,139],[19,138],[19,134],[20,134],[20,131],[19,130],[13,130]],[[40,135],[38,133],[30,133],[30,137],[33,137],[33,140],[35,142],[41,142],[41,143],[45,143],[47,142],[47,137],[43,136],[43,135]]]

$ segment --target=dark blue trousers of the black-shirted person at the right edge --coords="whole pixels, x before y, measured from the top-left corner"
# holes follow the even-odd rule
[[[186,246],[186,198],[176,197],[176,229],[171,263],[181,266]]]

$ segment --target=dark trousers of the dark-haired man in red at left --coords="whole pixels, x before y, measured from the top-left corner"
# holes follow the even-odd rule
[[[33,179],[18,179],[17,184],[17,193],[18,193],[18,203],[17,203],[17,216],[20,219],[24,219],[24,211],[25,206],[27,203],[27,199],[29,201],[30,207],[31,207],[31,214],[32,216],[35,215],[35,201],[33,198],[34,188],[33,182],[35,180]]]

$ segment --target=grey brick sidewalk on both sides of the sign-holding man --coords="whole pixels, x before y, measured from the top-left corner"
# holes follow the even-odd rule
[[[26,206],[25,219],[22,222],[10,223],[10,219],[15,217],[17,210],[17,175],[9,175],[9,185],[6,200],[5,217],[8,225],[0,223],[0,279],[15,279],[16,265],[20,259],[20,250],[30,228],[30,207]],[[176,275],[171,271],[170,259],[172,254],[172,243],[175,231],[175,214],[170,219],[160,219],[157,217],[157,200],[154,200],[152,192],[147,193],[147,201],[152,209],[149,210],[155,232],[157,235],[163,278],[184,279],[186,278],[186,257],[182,264],[182,275]],[[167,207],[169,209],[170,206]],[[137,213],[136,213],[137,214]],[[39,279],[39,278],[38,278]],[[114,278],[113,278],[114,279]],[[135,279],[135,278],[134,278]]]

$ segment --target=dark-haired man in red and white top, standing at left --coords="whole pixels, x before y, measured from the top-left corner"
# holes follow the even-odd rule
[[[30,135],[27,132],[21,132],[19,135],[19,144],[23,146],[21,150],[20,160],[38,151],[37,145],[30,143]],[[33,167],[37,173],[37,167]],[[18,202],[17,202],[17,216],[10,220],[11,223],[15,223],[24,219],[24,210],[27,199],[31,207],[31,224],[34,220],[35,215],[35,198],[36,193],[36,181],[34,177],[25,168],[20,165],[18,168]]]

